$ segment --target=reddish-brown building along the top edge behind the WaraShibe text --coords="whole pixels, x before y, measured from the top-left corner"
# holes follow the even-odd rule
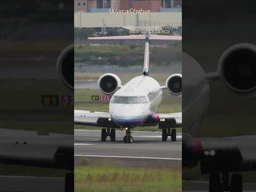
[[[108,12],[109,9],[147,9],[181,12],[182,0],[74,0],[75,12]]]

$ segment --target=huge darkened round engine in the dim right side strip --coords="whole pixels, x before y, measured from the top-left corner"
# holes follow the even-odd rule
[[[256,93],[256,46],[237,44],[227,49],[219,60],[220,79],[229,90],[243,97]]]

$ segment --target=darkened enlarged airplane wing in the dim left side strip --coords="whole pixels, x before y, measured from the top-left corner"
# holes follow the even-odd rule
[[[0,129],[0,163],[72,170],[73,156],[73,135]]]

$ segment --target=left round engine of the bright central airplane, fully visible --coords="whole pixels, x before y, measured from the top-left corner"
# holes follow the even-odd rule
[[[111,73],[102,75],[98,81],[99,89],[104,94],[113,94],[121,86],[121,79]]]

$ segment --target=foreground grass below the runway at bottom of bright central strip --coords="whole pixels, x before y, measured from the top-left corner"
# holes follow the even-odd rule
[[[118,164],[75,166],[77,192],[178,192],[181,187],[180,166],[166,169],[138,169]]]

